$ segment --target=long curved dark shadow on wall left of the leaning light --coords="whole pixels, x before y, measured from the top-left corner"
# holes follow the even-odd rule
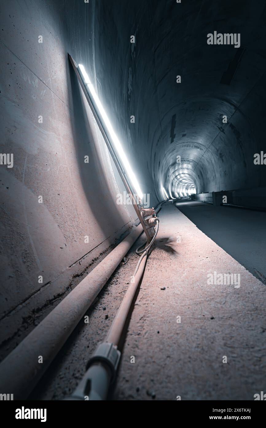
[[[94,142],[94,137],[89,125],[86,125],[88,118],[79,82],[69,60],[68,65],[72,93],[71,104],[73,105],[71,127],[79,163],[79,175],[94,219],[97,219],[97,225],[102,229],[103,235],[108,238],[124,226],[125,217],[121,216],[116,201],[109,193],[99,152],[93,146],[94,143],[91,144]],[[84,162],[85,155],[89,156],[89,164]],[[131,217],[128,218],[128,221],[130,220]]]

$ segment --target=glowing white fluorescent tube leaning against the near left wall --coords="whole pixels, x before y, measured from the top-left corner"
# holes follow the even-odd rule
[[[127,160],[125,152],[123,151],[123,148],[121,146],[121,143],[118,140],[118,138],[117,138],[117,136],[116,136],[116,134],[114,132],[114,129],[113,129],[113,127],[112,127],[112,125],[111,125],[111,123],[110,123],[110,121],[109,121],[106,113],[105,113],[104,108],[102,107],[101,101],[99,100],[99,98],[98,98],[98,96],[97,96],[97,94],[96,94],[96,92],[94,90],[94,87],[91,84],[91,81],[90,81],[90,79],[88,77],[88,74],[86,73],[85,68],[83,67],[82,64],[79,64],[79,69],[82,72],[82,76],[83,76],[84,82],[88,86],[88,89],[89,89],[89,91],[90,91],[90,93],[91,93],[91,95],[92,95],[92,97],[93,97],[93,99],[95,101],[95,104],[96,104],[96,106],[97,106],[97,108],[99,110],[99,113],[102,116],[102,119],[103,119],[103,122],[105,124],[105,127],[108,130],[109,137],[111,137],[111,140],[114,143],[114,147],[116,149],[116,152],[119,155],[119,157],[120,157],[120,159],[121,159],[121,161],[123,163],[124,168],[126,169],[127,175],[129,176],[130,181],[132,182],[135,190],[137,191],[138,196],[140,197],[140,199],[142,199],[143,198],[143,193],[140,190],[140,186],[139,186],[139,184],[137,182],[137,178],[136,178],[134,172],[132,171],[132,168],[131,168],[131,166],[129,164],[129,161]]]

